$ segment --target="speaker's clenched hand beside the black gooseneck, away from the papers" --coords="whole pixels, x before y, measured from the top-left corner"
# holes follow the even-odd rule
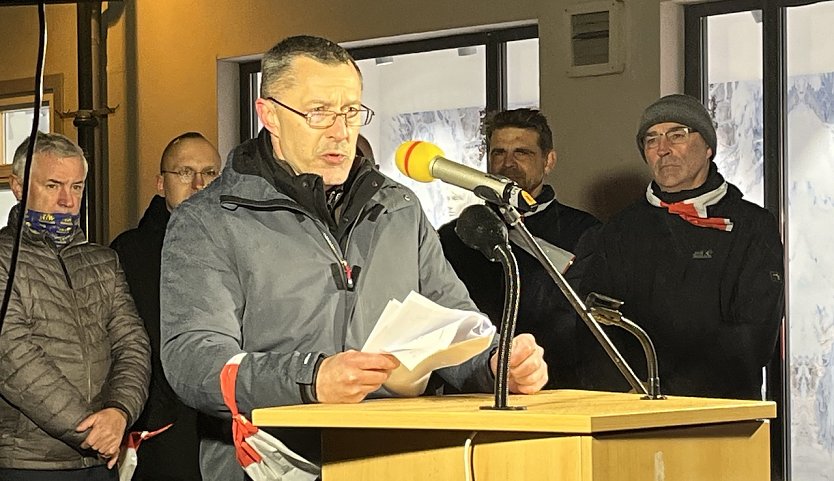
[[[489,359],[492,374],[498,372],[498,351]],[[541,391],[547,383],[547,363],[544,349],[536,344],[532,334],[519,334],[513,339],[510,349],[510,392],[533,394]]]

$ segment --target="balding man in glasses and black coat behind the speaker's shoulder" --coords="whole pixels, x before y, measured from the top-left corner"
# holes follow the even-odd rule
[[[139,227],[122,233],[111,245],[124,266],[153,349],[150,396],[132,429],[155,431],[174,423],[141,445],[134,481],[200,479],[197,414],[177,399],[159,360],[159,268],[171,211],[219,174],[220,155],[205,137],[196,132],[177,136],[162,153],[158,195],[151,200]]]

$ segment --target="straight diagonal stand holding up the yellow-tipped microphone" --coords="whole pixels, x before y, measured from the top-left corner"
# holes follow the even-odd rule
[[[480,190],[480,189],[478,189]],[[542,250],[541,246],[536,242],[536,239],[530,234],[530,231],[527,230],[527,226],[521,222],[521,214],[519,214],[518,210],[516,210],[512,205],[509,205],[505,202],[501,202],[498,199],[494,199],[494,196],[488,195],[486,192],[476,192],[479,194],[479,197],[484,198],[481,194],[486,194],[488,197],[492,198],[485,200],[491,201],[498,205],[498,211],[504,217],[504,221],[507,225],[515,228],[521,234],[521,238],[519,240],[523,241],[526,245],[529,252],[533,254],[536,260],[544,267],[545,271],[550,275],[556,285],[559,287],[559,290],[562,291],[562,294],[568,299],[573,309],[579,314],[579,317],[585,322],[585,325],[591,330],[594,337],[596,337],[597,341],[600,345],[605,349],[606,354],[611,360],[614,362],[614,365],[617,366],[617,369],[620,370],[620,373],[626,378],[626,381],[631,385],[632,389],[636,392],[642,393],[644,395],[643,399],[662,399],[663,396],[659,392],[659,380],[657,382],[651,382],[650,384],[653,386],[652,391],[650,392],[649,389],[640,381],[640,378],[634,374],[634,370],[631,369],[631,366],[628,365],[626,360],[623,358],[620,351],[614,346],[611,342],[611,339],[608,338],[608,335],[605,334],[605,331],[602,330],[600,327],[600,323],[597,320],[595,313],[599,313],[599,309],[597,308],[596,311],[593,311],[586,308],[585,305],[582,303],[582,300],[579,299],[579,296],[576,292],[570,287],[567,283],[565,278],[562,274],[553,266],[553,263],[550,259],[545,255],[544,251]],[[600,316],[602,317],[602,316]],[[621,316],[620,316],[621,317]],[[629,321],[630,322],[630,321]],[[634,323],[631,323],[634,325]],[[638,328],[639,329],[639,328]],[[629,331],[631,332],[631,331]],[[645,332],[643,333],[645,334]],[[648,338],[648,336],[646,336]],[[642,341],[641,341],[642,342]],[[651,342],[651,341],[649,341]],[[654,348],[651,349],[651,354],[654,355],[654,358],[649,361],[649,365],[657,366],[657,357],[654,353]],[[654,373],[655,378],[657,377],[657,372]]]

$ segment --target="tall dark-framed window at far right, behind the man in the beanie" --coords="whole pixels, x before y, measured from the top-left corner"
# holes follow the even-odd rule
[[[685,17],[687,92],[701,96],[718,123],[716,163],[749,200],[783,220],[785,329],[767,389],[779,410],[771,423],[773,479],[828,479],[834,1],[721,1],[686,7]]]

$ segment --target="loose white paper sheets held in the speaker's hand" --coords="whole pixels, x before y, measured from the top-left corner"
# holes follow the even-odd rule
[[[418,396],[432,371],[480,354],[494,335],[495,326],[483,314],[449,309],[412,291],[403,302],[388,302],[362,351],[394,355],[401,364],[385,388]]]

